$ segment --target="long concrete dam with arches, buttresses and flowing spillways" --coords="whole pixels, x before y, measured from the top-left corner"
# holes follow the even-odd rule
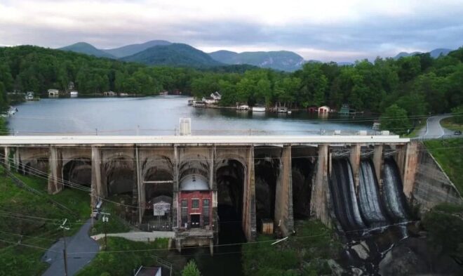
[[[128,221],[175,232],[178,249],[212,248],[229,217],[252,241],[269,222],[281,237],[308,217],[351,232],[406,221],[408,206],[462,202],[422,144],[398,136],[3,136],[0,146],[7,169],[48,178],[51,194],[81,188],[92,206],[124,195]]]

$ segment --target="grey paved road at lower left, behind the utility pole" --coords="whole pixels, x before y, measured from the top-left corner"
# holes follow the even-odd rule
[[[88,237],[88,230],[91,227],[91,219],[86,221],[82,225],[79,232],[72,237],[66,237],[67,243],[67,272],[68,275],[74,275],[79,271],[83,266],[95,257],[96,252],[100,249],[100,246],[94,239]],[[43,273],[42,276],[59,276],[65,275],[65,264],[62,256],[62,249],[64,244],[62,239],[53,244],[45,255],[42,257],[42,260],[51,263],[50,268]],[[93,252],[93,253],[79,253],[79,252]]]

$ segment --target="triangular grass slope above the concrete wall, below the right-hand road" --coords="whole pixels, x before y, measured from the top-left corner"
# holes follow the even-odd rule
[[[428,140],[424,145],[463,194],[463,139]]]

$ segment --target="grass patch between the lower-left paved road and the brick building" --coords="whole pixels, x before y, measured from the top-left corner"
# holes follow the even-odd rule
[[[78,276],[133,275],[133,270],[140,265],[158,265],[154,256],[166,258],[168,255],[168,239],[147,243],[108,237],[107,243],[108,251],[100,251],[90,264],[77,273]]]

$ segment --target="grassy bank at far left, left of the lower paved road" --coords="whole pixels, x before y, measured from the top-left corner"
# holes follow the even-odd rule
[[[30,187],[46,192],[45,179],[18,177]],[[41,256],[62,236],[58,228],[62,219],[68,218],[71,230],[67,235],[72,235],[89,213],[86,192],[65,189],[57,195],[36,195],[14,185],[0,166],[0,275],[41,275],[48,267]]]

